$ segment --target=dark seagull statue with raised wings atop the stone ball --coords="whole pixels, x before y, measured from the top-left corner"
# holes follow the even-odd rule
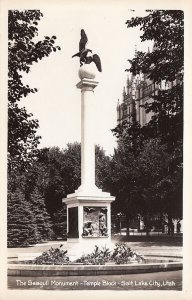
[[[74,54],[72,57],[80,58],[80,66],[83,64],[90,64],[92,62],[95,63],[99,72],[102,72],[101,60],[98,54],[88,55],[88,53],[92,53],[92,50],[86,48],[86,44],[88,42],[87,35],[84,29],[81,29],[81,39],[79,41],[79,52]]]

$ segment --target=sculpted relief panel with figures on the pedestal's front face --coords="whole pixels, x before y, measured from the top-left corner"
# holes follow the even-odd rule
[[[108,236],[107,207],[84,206],[83,237]]]

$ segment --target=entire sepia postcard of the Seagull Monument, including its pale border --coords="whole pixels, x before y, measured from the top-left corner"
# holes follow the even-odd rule
[[[7,291],[177,296],[185,10],[27,4],[3,10]]]

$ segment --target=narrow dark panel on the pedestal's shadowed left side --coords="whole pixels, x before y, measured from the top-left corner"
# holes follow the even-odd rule
[[[78,238],[78,207],[68,208],[68,238]]]

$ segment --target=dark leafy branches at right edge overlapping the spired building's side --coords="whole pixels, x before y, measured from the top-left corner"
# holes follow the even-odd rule
[[[162,90],[153,96],[152,103],[145,103],[146,112],[154,115],[142,131],[150,137],[160,137],[162,143],[167,144],[167,151],[173,152],[181,147],[183,140],[183,84],[180,83],[171,89]],[[182,156],[180,163],[182,162]]]

